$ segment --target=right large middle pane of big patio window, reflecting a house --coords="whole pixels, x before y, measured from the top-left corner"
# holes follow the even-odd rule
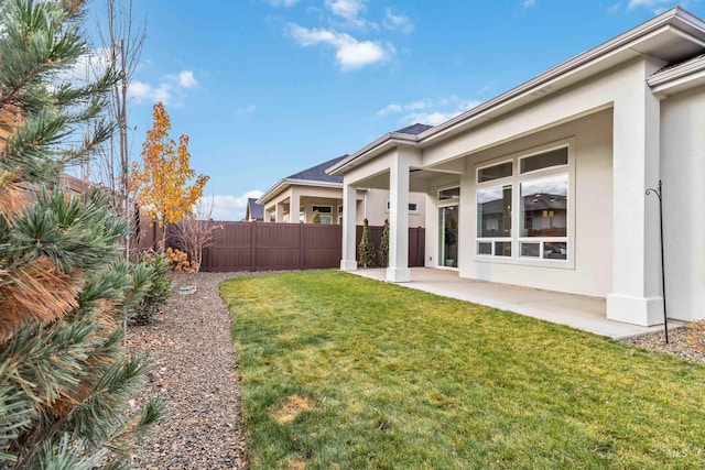
[[[567,236],[568,176],[521,183],[521,237]]]

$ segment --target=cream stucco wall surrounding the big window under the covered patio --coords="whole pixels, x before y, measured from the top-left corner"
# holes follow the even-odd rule
[[[575,199],[572,239],[574,263],[566,263],[570,267],[546,267],[478,260],[475,256],[476,165],[564,139],[572,139],[575,145],[575,183],[570,195]],[[460,275],[582,295],[607,296],[611,288],[612,272],[611,142],[612,114],[611,110],[605,110],[466,157],[466,172],[460,181]],[[434,181],[432,186],[444,184],[448,184],[447,177]],[[430,201],[434,199],[431,193]],[[434,244],[427,247],[433,251],[427,253],[434,253],[437,251],[437,221],[432,223],[431,219],[437,218],[437,215],[434,216],[435,207],[429,207],[427,214],[427,238],[434,239]],[[433,227],[436,227],[435,231]],[[436,265],[435,261],[430,262],[430,265]]]

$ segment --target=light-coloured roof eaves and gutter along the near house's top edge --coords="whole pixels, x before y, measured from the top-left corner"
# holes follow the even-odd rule
[[[601,72],[618,66],[634,57],[649,55],[666,63],[688,61],[703,53],[705,43],[705,22],[680,7],[673,8],[646,23],[618,35],[583,54],[579,54],[541,75],[499,95],[446,122],[410,135],[401,132],[390,132],[382,135],[364,149],[341,160],[328,168],[332,175],[343,175],[377,155],[399,145],[423,147],[446,136],[455,135],[487,123],[500,116],[541,100],[549,95],[566,89],[579,81],[586,80]],[[679,80],[679,73],[685,74],[690,68],[705,70],[705,59],[690,61],[672,69],[664,70],[651,77],[648,83],[652,90],[666,92],[668,87],[683,86]],[[692,70],[690,72],[692,74]],[[705,80],[705,74],[695,74],[693,79]],[[692,74],[693,76],[693,74]],[[657,78],[662,89],[655,89]],[[695,81],[691,81],[691,86]]]

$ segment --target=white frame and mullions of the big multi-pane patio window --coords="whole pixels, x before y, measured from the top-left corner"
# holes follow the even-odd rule
[[[474,178],[473,178],[473,198],[475,207],[475,230],[474,243],[473,243],[473,260],[477,262],[499,263],[499,264],[520,264],[541,267],[558,267],[558,269],[575,269],[575,138],[566,138],[560,141],[554,141],[544,145],[534,146],[520,152],[516,152],[509,155],[502,155],[497,159],[479,162],[475,165]],[[541,153],[550,152],[561,147],[567,149],[567,164],[555,165],[546,168],[532,170],[521,173],[521,160],[528,159]],[[498,164],[512,163],[512,175],[503,178],[491,179],[488,182],[479,182],[479,171],[482,168],[491,167]],[[522,237],[521,230],[524,225],[522,219],[522,205],[521,205],[521,184],[534,179],[542,179],[544,177],[567,175],[567,217],[566,217],[566,236],[565,237]],[[482,188],[490,188],[496,186],[503,186],[511,184],[512,187],[512,207],[511,207],[511,237],[501,238],[486,238],[479,237],[477,223],[478,219],[478,190]],[[480,254],[480,243],[487,243],[491,241],[492,254]],[[511,256],[501,256],[495,254],[495,242],[511,241]],[[539,243],[539,256],[522,255],[522,245],[527,243]],[[566,244],[566,259],[547,259],[542,258],[544,254],[545,243],[565,243]],[[555,245],[560,247],[560,245]]]

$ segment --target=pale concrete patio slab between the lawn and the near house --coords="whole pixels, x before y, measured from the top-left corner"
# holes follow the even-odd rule
[[[384,269],[366,269],[350,273],[384,281]],[[399,285],[567,325],[614,339],[663,330],[663,325],[642,327],[608,320],[604,298],[467,280],[451,270],[412,267],[411,282]],[[669,319],[669,329],[684,325],[684,321]]]

